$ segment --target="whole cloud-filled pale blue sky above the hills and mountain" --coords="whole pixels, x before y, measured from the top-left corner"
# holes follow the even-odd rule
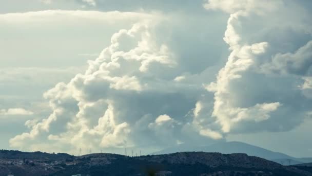
[[[240,141],[312,157],[312,1],[2,0],[0,148]]]

